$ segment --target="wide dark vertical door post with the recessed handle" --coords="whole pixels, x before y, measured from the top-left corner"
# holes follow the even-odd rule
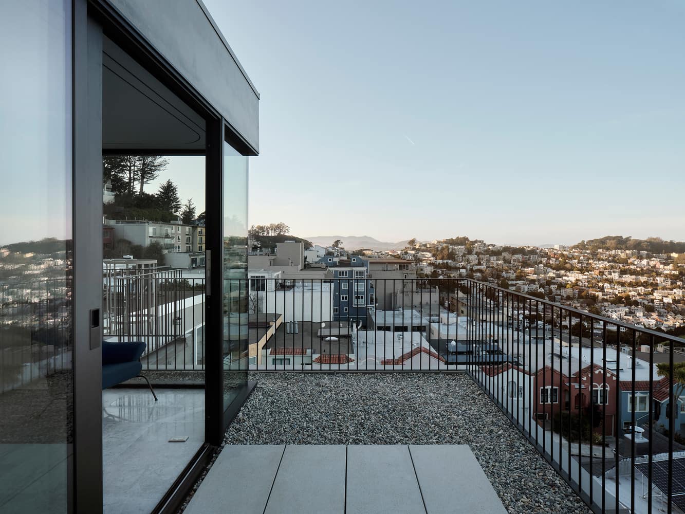
[[[73,484],[71,510],[102,511],[102,32],[72,1]],[[99,323],[101,325],[101,323]],[[91,332],[93,336],[91,338]]]

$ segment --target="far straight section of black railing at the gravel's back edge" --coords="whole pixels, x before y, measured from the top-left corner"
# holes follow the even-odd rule
[[[456,280],[251,278],[249,369],[258,371],[456,371],[467,359],[505,362],[466,341],[465,316],[445,305]],[[359,270],[360,271],[360,270]],[[465,296],[462,297],[465,299]]]

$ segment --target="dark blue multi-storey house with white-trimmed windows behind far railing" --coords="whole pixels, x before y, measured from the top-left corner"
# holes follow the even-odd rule
[[[339,260],[329,272],[333,276],[333,319],[361,320],[362,326],[366,326],[367,309],[375,305],[369,260],[352,256],[349,260]]]

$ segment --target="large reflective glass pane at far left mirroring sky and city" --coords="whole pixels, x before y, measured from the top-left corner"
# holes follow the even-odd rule
[[[73,442],[71,1],[0,16],[0,512],[64,513]]]

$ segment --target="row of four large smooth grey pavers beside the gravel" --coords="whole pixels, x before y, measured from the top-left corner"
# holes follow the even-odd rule
[[[226,445],[186,514],[504,514],[468,445]]]

